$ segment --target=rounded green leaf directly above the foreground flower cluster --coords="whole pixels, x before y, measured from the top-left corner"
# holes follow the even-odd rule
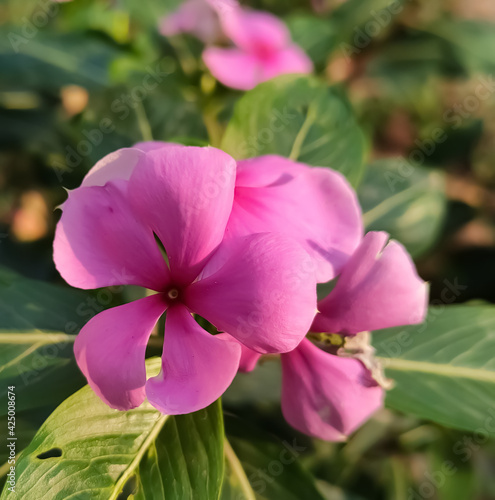
[[[348,101],[314,77],[285,75],[247,92],[222,141],[234,158],[277,154],[331,167],[356,185],[365,141]]]

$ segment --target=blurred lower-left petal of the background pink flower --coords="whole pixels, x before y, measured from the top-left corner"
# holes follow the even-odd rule
[[[258,59],[239,49],[207,48],[203,60],[211,74],[227,87],[251,90],[262,81],[263,68]]]

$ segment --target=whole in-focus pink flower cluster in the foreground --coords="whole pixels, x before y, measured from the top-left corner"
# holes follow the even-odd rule
[[[288,422],[341,440],[381,406],[383,390],[362,359],[305,337],[352,339],[422,321],[427,286],[387,239],[363,235],[354,191],[328,168],[156,142],[119,150],[69,193],[54,259],[75,287],[153,293],[92,318],[77,363],[113,408],[147,397],[183,414],[219,398],[261,355],[280,353]],[[317,303],[317,282],[335,278]],[[147,380],[146,346],[165,311],[162,369]]]

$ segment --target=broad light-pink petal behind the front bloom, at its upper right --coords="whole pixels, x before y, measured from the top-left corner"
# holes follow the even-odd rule
[[[340,272],[363,227],[353,189],[338,172],[280,156],[238,162],[228,236],[277,231],[296,238],[315,260],[319,282]]]

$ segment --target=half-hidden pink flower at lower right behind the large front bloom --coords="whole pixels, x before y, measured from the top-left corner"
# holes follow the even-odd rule
[[[342,269],[335,288],[318,303],[311,331],[353,335],[421,323],[428,287],[406,250],[386,233],[368,233]],[[254,369],[260,354],[243,347],[240,369]],[[363,357],[340,357],[305,339],[282,354],[282,411],[296,429],[341,441],[383,402],[383,390]]]

